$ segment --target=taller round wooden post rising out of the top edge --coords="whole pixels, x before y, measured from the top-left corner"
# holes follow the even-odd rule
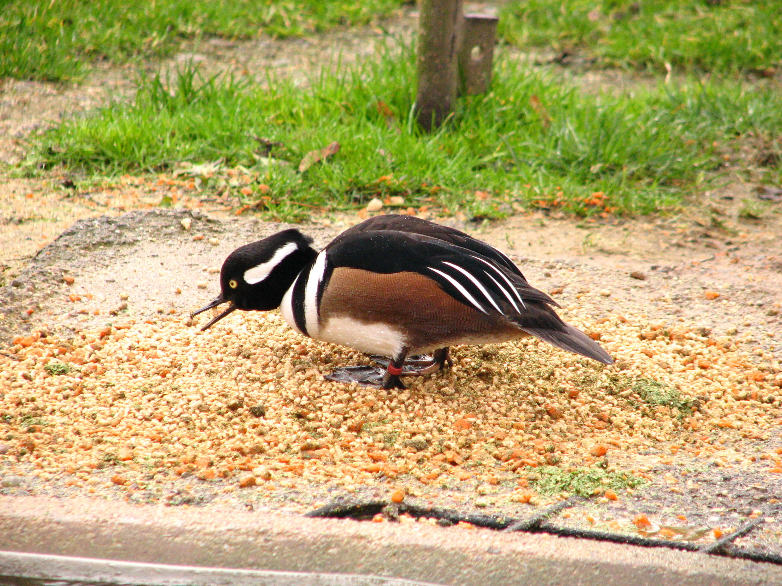
[[[461,0],[420,0],[418,17],[418,123],[425,130],[450,114],[457,95]]]

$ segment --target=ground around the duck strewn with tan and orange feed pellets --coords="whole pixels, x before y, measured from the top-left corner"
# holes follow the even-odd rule
[[[203,334],[188,320],[232,248],[282,227],[136,212],[82,220],[45,248],[2,291],[2,490],[299,512],[396,493],[524,516],[567,496],[536,489],[550,466],[591,466],[601,484],[569,522],[708,540],[763,516],[752,544],[780,549],[773,295],[693,269],[640,280],[519,259],[615,366],[522,341],[454,348],[454,370],[401,393],[351,388],[323,374],[367,358],[277,312]],[[318,245],[338,231],[302,229]]]

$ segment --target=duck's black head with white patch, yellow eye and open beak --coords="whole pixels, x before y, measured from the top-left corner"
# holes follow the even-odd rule
[[[317,256],[311,242],[312,238],[291,228],[240,246],[223,263],[220,295],[208,306],[194,311],[191,317],[222,303],[231,303],[228,309],[206,323],[201,328],[203,331],[235,309],[268,311],[279,307],[296,275]]]

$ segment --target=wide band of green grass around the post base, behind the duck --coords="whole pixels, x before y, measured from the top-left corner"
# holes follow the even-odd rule
[[[653,213],[675,209],[719,170],[715,144],[750,132],[773,140],[782,128],[773,88],[693,82],[596,96],[503,59],[493,91],[461,99],[436,133],[418,129],[413,101],[409,47],[338,73],[327,67],[308,88],[185,70],[170,87],[146,78],[133,102],[64,121],[36,138],[34,161],[111,175],[219,159],[268,185],[264,209],[288,220],[307,205],[349,208],[376,195],[477,218],[519,204]],[[271,156],[284,164],[267,165],[258,137],[282,143]],[[296,171],[305,153],[332,141],[342,145],[336,155]]]

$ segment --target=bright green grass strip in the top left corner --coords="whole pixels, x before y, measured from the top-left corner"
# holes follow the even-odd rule
[[[78,80],[90,63],[169,55],[202,36],[289,37],[386,16],[403,0],[0,0],[0,78]]]

